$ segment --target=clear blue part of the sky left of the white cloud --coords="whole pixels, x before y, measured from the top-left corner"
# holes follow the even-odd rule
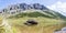
[[[0,0],[0,9],[8,7],[9,4],[16,4],[16,3],[41,3],[45,6],[51,6],[55,3],[57,0]]]

